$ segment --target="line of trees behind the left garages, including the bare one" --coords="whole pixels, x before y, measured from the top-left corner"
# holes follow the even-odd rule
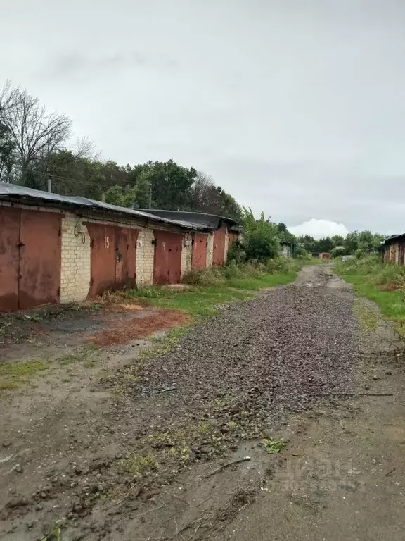
[[[240,219],[236,200],[210,176],[173,160],[120,165],[89,139],[72,140],[72,120],[6,82],[0,91],[0,181],[141,209],[199,211]]]

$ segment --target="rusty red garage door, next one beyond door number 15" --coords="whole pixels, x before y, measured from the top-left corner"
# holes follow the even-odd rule
[[[179,283],[183,235],[160,230],[153,231],[153,235],[155,235],[153,281],[158,285]]]

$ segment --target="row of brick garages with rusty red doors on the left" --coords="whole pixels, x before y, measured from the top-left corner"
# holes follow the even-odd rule
[[[0,311],[178,283],[238,238],[229,218],[152,212],[0,183]]]

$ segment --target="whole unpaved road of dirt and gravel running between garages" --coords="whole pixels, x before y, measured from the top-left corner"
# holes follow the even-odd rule
[[[404,346],[330,266],[159,355],[58,340],[1,395],[1,539],[404,539]]]

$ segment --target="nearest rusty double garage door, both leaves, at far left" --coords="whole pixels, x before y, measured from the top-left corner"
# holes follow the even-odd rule
[[[0,311],[56,303],[60,295],[60,214],[0,210]]]

